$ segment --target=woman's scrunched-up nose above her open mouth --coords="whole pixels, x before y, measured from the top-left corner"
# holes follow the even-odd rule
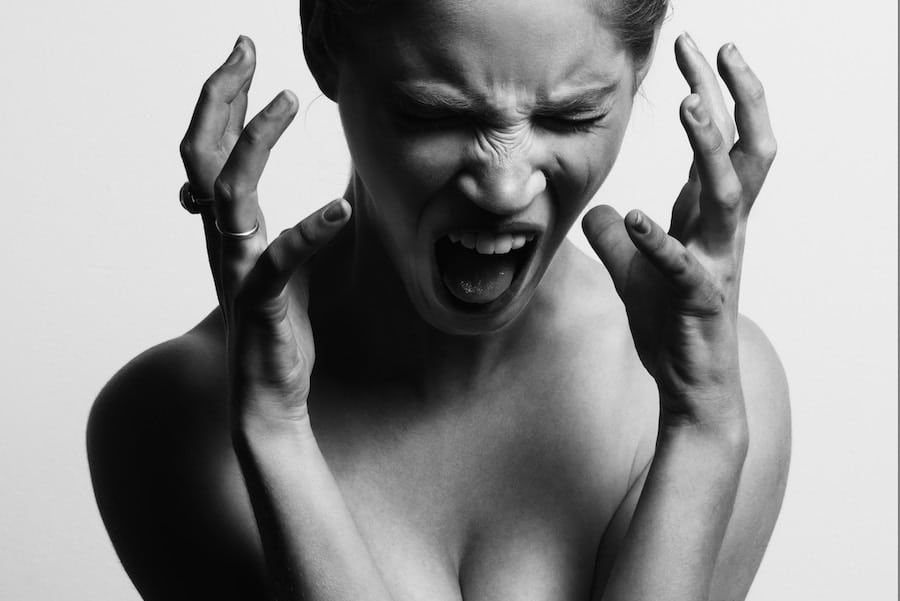
[[[513,155],[470,162],[459,174],[458,185],[482,209],[498,215],[514,215],[547,188],[547,178],[520,150]]]

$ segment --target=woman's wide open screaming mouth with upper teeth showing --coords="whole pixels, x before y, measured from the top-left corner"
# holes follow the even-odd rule
[[[504,295],[515,294],[537,244],[535,233],[458,232],[435,242],[440,279],[453,304],[486,310]]]

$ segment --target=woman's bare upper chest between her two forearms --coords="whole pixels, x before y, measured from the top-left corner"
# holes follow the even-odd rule
[[[536,391],[467,407],[407,422],[319,414],[388,587],[398,601],[587,599],[634,449],[590,407]]]

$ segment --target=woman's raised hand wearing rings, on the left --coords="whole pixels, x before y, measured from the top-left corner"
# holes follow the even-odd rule
[[[350,205],[337,199],[267,243],[257,184],[298,103],[283,91],[244,126],[255,65],[242,36],[203,85],[181,155],[194,197],[214,198],[201,213],[225,320],[232,426],[308,429],[307,263],[347,223]]]

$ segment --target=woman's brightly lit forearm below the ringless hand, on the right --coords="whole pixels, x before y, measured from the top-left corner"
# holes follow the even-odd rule
[[[747,452],[746,427],[662,423],[602,601],[707,601]]]

